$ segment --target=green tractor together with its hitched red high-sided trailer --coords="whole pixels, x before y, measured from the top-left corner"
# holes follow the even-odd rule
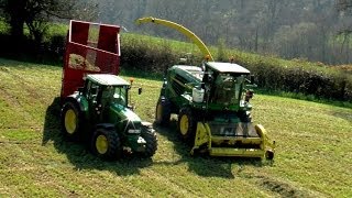
[[[101,158],[124,152],[151,157],[156,133],[130,106],[131,84],[119,73],[119,26],[72,21],[62,85],[62,131]],[[97,41],[91,38],[98,35]],[[139,90],[141,92],[141,89]]]

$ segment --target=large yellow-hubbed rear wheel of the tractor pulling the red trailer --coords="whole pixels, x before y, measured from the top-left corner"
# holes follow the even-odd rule
[[[78,105],[67,101],[64,103],[61,114],[61,125],[64,135],[72,140],[77,141],[82,133],[82,112],[79,110]]]

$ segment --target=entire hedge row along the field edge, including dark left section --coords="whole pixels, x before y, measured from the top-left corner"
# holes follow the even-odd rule
[[[52,63],[62,61],[64,54],[65,36],[53,35],[50,42],[35,45],[31,42],[21,44],[21,53],[31,55],[43,62],[45,58]],[[3,46],[1,54],[10,54],[13,43],[6,36],[0,36]],[[12,47],[11,47],[12,46]],[[34,47],[33,47],[34,46]],[[258,88],[274,91],[288,91],[304,95],[312,95],[317,98],[352,101],[352,74],[342,69],[332,69],[327,66],[311,66],[308,62],[286,62],[273,57],[246,54],[237,51],[223,52],[219,47],[216,59],[226,59],[224,56],[234,56],[235,63],[249,68],[256,76]],[[9,51],[7,51],[9,50]],[[14,50],[16,53],[18,51]],[[121,67],[144,73],[163,74],[166,69],[179,63],[183,52],[169,42],[157,42],[151,38],[136,36],[122,37]],[[16,55],[16,57],[19,57]],[[188,64],[200,65],[201,55],[194,55]],[[320,64],[321,65],[321,64]]]

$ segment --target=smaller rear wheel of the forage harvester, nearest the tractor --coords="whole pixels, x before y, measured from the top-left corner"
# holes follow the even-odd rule
[[[168,125],[170,118],[170,103],[167,99],[160,98],[155,109],[155,123],[160,125]]]

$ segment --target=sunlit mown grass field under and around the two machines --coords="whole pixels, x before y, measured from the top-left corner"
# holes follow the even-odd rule
[[[175,123],[156,129],[152,160],[102,162],[59,133],[61,77],[59,67],[0,58],[0,197],[352,196],[351,109],[255,95],[254,122],[278,144],[274,163],[191,157]],[[134,84],[144,89],[132,96],[136,111],[152,122],[161,81]]]

